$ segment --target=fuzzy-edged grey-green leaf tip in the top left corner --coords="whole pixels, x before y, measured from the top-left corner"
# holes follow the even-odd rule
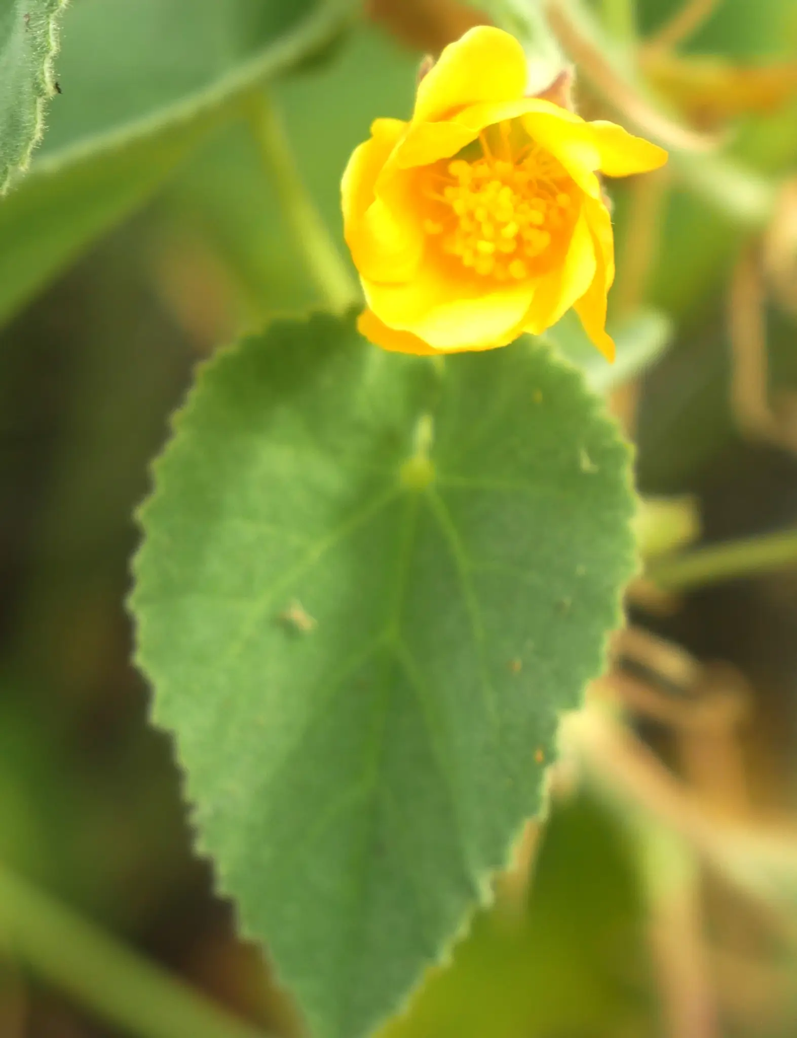
[[[66,0],[3,0],[0,11],[0,193],[27,167],[56,92],[53,59]]]

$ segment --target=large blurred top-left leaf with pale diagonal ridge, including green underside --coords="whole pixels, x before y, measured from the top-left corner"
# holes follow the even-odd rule
[[[0,321],[141,206],[202,136],[240,116],[248,92],[329,43],[346,4],[319,3],[297,22],[308,6],[264,8],[260,0],[75,6],[59,59],[63,94],[46,146],[30,175],[0,202]]]

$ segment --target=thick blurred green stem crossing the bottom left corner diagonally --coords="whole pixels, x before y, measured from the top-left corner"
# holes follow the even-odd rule
[[[0,947],[136,1038],[263,1038],[2,866]]]

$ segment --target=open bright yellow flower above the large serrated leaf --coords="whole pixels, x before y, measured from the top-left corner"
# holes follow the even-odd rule
[[[575,307],[609,359],[611,219],[596,175],[666,162],[612,122],[524,97],[509,33],[478,26],[421,80],[409,122],[377,119],[342,181],[346,240],[387,350],[489,350],[540,334]]]

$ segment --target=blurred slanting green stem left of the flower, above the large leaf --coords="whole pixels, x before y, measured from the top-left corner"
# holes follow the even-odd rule
[[[281,210],[302,249],[308,273],[330,309],[342,313],[360,301],[357,285],[302,183],[274,105],[262,91],[252,98],[250,118],[264,165],[274,181]]]

